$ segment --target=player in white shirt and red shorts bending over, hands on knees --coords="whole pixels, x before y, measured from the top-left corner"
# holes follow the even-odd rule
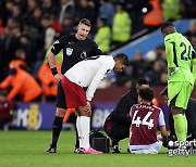
[[[128,65],[125,54],[119,53],[115,57],[100,55],[82,61],[70,68],[62,79],[62,87],[65,94],[66,107],[76,108],[76,127],[79,139],[79,153],[101,154],[89,145],[90,130],[90,101],[100,82],[110,70],[120,73]],[[85,92],[85,88],[87,88]]]

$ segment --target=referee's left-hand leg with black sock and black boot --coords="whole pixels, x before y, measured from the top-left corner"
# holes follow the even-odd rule
[[[59,84],[58,86],[56,106],[57,106],[57,111],[56,111],[56,117],[54,117],[53,126],[52,126],[52,142],[50,144],[50,147],[46,151],[46,153],[56,153],[57,143],[58,143],[61,130],[62,130],[63,118],[66,112],[65,95],[61,87],[61,84]]]

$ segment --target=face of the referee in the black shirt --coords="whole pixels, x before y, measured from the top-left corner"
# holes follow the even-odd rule
[[[85,40],[90,31],[90,27],[85,24],[79,24],[77,27],[76,38],[78,40]]]

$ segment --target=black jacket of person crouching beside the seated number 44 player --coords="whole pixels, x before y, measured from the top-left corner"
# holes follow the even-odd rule
[[[132,86],[128,92],[121,97],[118,102],[117,107],[110,113],[109,117],[111,121],[117,124],[127,124],[130,125],[130,108],[137,104],[137,92],[136,92],[136,85]]]

